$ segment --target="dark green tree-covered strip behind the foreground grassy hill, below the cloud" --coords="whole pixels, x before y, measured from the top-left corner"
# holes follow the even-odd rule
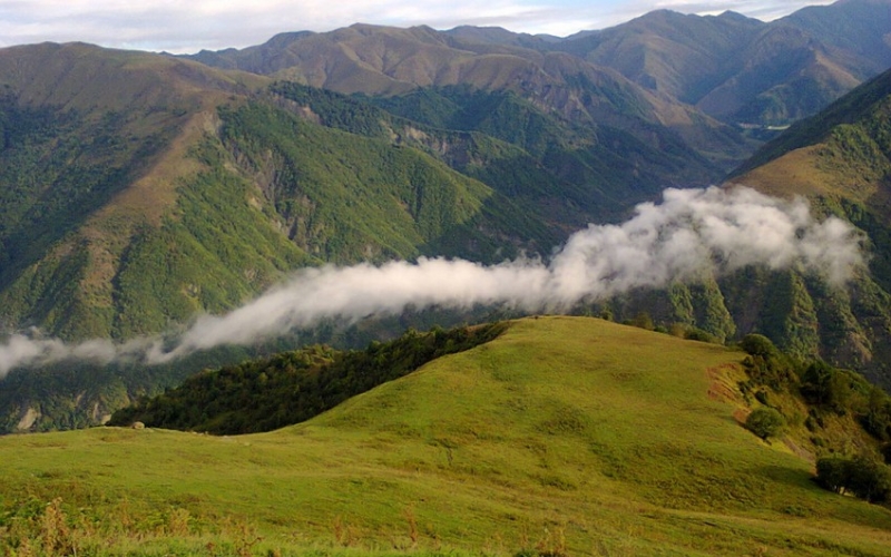
[[[364,351],[316,345],[205,371],[161,395],[118,410],[109,423],[141,421],[216,434],[271,431],[307,420],[431,360],[489,342],[505,329],[495,323],[427,334],[410,330],[394,341],[372,342]]]

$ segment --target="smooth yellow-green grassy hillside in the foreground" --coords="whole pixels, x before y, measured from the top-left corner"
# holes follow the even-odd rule
[[[883,555],[887,508],[821,490],[809,461],[740,427],[741,360],[528,319],[271,433],[7,437],[0,539],[78,555]]]

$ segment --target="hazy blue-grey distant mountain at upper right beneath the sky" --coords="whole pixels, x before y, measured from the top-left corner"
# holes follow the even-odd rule
[[[557,48],[727,123],[784,125],[891,67],[891,2],[810,7],[770,23],[657,10]]]

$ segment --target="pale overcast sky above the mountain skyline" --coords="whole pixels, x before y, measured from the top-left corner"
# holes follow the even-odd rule
[[[0,0],[0,47],[85,41],[104,47],[187,53],[243,48],[283,31],[329,31],[355,22],[451,29],[498,26],[565,37],[604,29],[647,11],[770,21],[813,0]]]

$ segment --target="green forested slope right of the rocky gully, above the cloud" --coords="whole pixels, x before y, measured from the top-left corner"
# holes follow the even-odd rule
[[[329,262],[412,258],[480,211],[491,190],[389,139],[311,124],[272,106],[222,109],[222,139],[288,237]],[[349,120],[347,120],[349,121]]]

